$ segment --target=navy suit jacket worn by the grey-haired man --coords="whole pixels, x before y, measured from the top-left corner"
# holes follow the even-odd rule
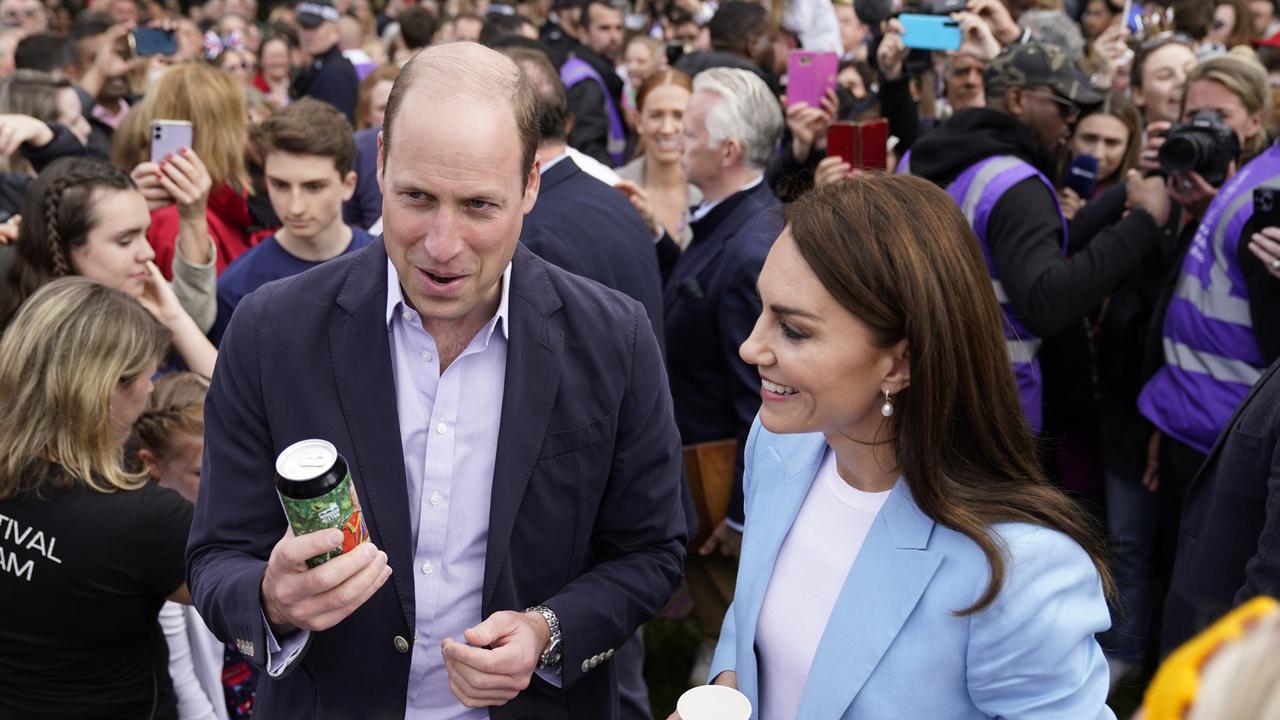
[[[782,232],[782,206],[768,184],[731,195],[692,223],[663,288],[667,370],[685,445],[737,438],[746,446],[760,409],[760,375],[737,355],[760,316],[755,281]],[[728,514],[742,519],[742,460]]]

